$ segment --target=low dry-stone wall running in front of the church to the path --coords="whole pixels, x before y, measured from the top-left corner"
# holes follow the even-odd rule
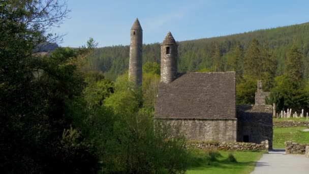
[[[213,141],[188,141],[187,148],[193,149],[216,149],[225,151],[262,151],[268,150],[268,141],[261,144],[253,142],[213,142]]]

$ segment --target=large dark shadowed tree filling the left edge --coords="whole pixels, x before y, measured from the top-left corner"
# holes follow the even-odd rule
[[[64,167],[75,173],[96,170],[97,159],[89,153],[88,142],[80,138],[61,143],[60,138],[71,123],[68,101],[79,96],[84,85],[76,62],[89,50],[59,48],[50,57],[33,55],[40,43],[61,39],[48,32],[67,13],[66,3],[57,0],[0,2],[0,163],[4,173],[61,173]],[[71,149],[75,143],[83,145]]]

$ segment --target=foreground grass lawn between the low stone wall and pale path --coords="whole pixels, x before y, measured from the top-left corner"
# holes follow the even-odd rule
[[[265,152],[220,151],[219,153],[220,157],[211,160],[205,151],[194,152],[187,173],[250,173]],[[229,153],[236,158],[236,163],[228,160]]]

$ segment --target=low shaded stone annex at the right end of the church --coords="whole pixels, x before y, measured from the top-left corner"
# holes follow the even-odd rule
[[[272,106],[239,105],[237,112],[237,141],[261,143],[268,140],[272,149]]]

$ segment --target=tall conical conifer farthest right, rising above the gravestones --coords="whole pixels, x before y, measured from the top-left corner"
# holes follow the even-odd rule
[[[302,53],[298,50],[295,41],[287,54],[285,74],[292,81],[299,82],[303,76]]]

